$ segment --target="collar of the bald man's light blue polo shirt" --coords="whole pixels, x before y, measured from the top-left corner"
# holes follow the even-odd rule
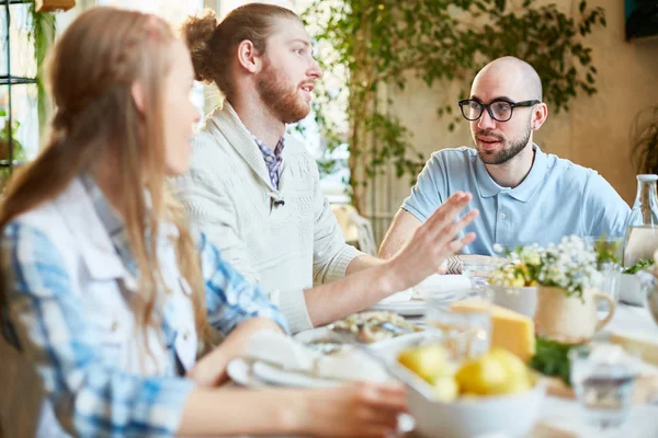
[[[498,185],[491,175],[489,175],[489,172],[487,172],[487,168],[485,166],[483,160],[477,157],[475,162],[475,174],[478,182],[480,196],[484,198],[489,198],[498,195],[500,192],[507,192],[514,199],[526,203],[544,181],[548,161],[548,157],[546,153],[542,152],[537,145],[532,143],[532,148],[535,152],[535,155],[532,168],[530,169],[530,173],[527,176],[525,176],[525,180],[523,180],[523,182],[514,188],[501,187]]]

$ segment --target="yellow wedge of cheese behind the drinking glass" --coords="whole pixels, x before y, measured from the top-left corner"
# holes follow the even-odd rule
[[[454,312],[483,312],[491,310],[491,346],[501,347],[529,361],[535,354],[534,322],[518,312],[484,301],[457,301]]]

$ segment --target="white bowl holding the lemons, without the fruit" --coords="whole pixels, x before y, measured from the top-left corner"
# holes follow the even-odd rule
[[[473,438],[496,434],[525,437],[534,427],[545,393],[545,385],[540,381],[521,394],[443,403],[430,401],[408,387],[407,400],[420,437]]]

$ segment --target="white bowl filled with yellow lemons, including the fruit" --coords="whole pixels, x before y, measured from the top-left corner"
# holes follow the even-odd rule
[[[526,436],[536,422],[544,384],[512,353],[494,347],[455,360],[450,345],[429,343],[396,353],[408,384],[410,414],[422,437]]]

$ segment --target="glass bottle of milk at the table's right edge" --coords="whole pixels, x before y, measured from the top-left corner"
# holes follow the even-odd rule
[[[654,258],[658,250],[658,175],[637,175],[637,195],[626,222],[622,264],[629,267],[640,260]]]

